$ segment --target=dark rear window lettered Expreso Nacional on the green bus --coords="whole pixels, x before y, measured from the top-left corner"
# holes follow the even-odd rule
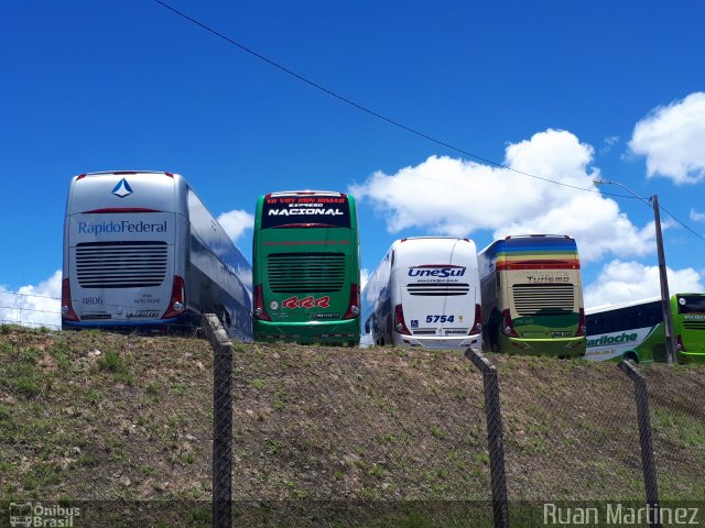
[[[265,197],[262,229],[349,228],[350,206],[345,196]]]

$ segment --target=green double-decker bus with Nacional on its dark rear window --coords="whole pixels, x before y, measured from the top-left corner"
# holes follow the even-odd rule
[[[359,238],[351,196],[261,196],[252,273],[256,340],[359,343]]]

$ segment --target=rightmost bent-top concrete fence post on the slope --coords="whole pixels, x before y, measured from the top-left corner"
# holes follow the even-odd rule
[[[651,528],[661,528],[659,485],[657,483],[657,464],[653,460],[653,443],[651,441],[651,418],[649,416],[647,380],[628,361],[622,360],[617,366],[634,382],[637,418],[639,420],[639,443],[641,444],[641,469],[643,471],[643,484],[647,491],[649,526]]]

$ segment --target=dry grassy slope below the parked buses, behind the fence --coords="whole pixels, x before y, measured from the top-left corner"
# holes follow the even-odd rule
[[[643,501],[616,364],[490,360],[510,501]],[[170,499],[205,519],[212,367],[199,339],[0,327],[0,498]],[[234,372],[238,504],[490,498],[482,380],[460,352],[236,344]],[[661,497],[703,499],[705,367],[643,372]]]

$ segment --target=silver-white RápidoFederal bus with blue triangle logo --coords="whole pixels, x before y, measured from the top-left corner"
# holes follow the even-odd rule
[[[189,331],[214,312],[252,339],[252,268],[177,174],[74,177],[63,272],[64,329]]]

